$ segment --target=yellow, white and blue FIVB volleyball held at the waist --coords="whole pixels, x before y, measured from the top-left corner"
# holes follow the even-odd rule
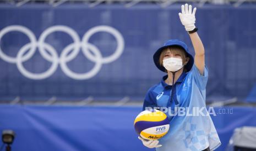
[[[158,140],[169,130],[169,120],[159,110],[143,111],[134,120],[134,128],[138,135],[146,140]]]

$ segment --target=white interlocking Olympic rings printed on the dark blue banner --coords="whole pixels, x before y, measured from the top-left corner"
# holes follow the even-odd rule
[[[11,57],[4,54],[3,50],[0,48],[0,58],[9,63],[16,63],[21,74],[27,78],[35,80],[50,77],[58,68],[58,64],[61,66],[62,71],[70,78],[76,80],[92,78],[100,71],[102,64],[110,63],[118,59],[123,53],[124,49],[124,39],[122,34],[110,26],[96,26],[91,28],[84,34],[81,41],[77,32],[75,32],[72,28],[63,25],[52,26],[42,32],[37,42],[34,33],[28,28],[20,25],[12,25],[3,28],[3,30],[0,31],[0,42],[4,34],[12,31],[18,31],[25,34],[29,37],[30,43],[21,47],[16,57]],[[63,49],[59,57],[55,48],[53,48],[50,44],[45,43],[46,37],[53,32],[67,33],[74,41]],[[100,50],[95,45],[89,43],[90,37],[97,32],[107,32],[115,37],[117,41],[115,53],[107,57],[102,57]],[[23,62],[28,61],[35,54],[36,48],[39,49],[39,53],[42,55],[43,59],[47,60],[48,62],[52,62],[51,67],[42,73],[31,73],[23,66]],[[95,66],[86,73],[75,73],[67,66],[67,62],[77,57],[80,49],[85,57],[87,57],[90,61],[95,62]],[[27,51],[28,53],[26,53]]]

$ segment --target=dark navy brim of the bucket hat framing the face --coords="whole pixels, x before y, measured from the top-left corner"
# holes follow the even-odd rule
[[[166,46],[164,46],[164,47],[159,48],[159,49],[155,52],[155,54],[154,54],[154,56],[153,56],[153,59],[154,59],[154,62],[155,62],[156,67],[159,68],[162,72],[166,72],[165,67],[160,65],[160,63],[159,63],[159,58],[160,58],[160,55],[161,55],[161,53],[162,53],[162,50],[164,50],[164,49],[167,48],[167,47],[171,47],[171,46],[180,47],[180,48],[182,48],[182,49],[186,52],[187,57],[189,57],[189,61],[188,61],[187,65],[185,66],[185,68],[187,69],[187,72],[190,71],[191,68],[192,68],[192,66],[193,66],[193,64],[194,64],[194,57],[186,51],[186,48],[182,47],[181,45],[177,45],[177,44],[166,45]]]

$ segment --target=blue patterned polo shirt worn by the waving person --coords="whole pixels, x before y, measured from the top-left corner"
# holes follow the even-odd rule
[[[183,72],[173,85],[165,83],[165,75],[159,84],[152,86],[145,97],[143,110],[146,107],[169,107],[171,113],[175,113],[175,107],[186,108],[186,111],[201,109],[204,115],[179,115],[166,113],[170,120],[168,133],[159,140],[162,147],[158,151],[171,150],[214,150],[220,146],[220,139],[215,126],[206,109],[206,83],[208,80],[208,68],[205,67],[204,75],[201,75],[198,68],[193,65],[192,69]],[[172,98],[172,90],[173,92]]]

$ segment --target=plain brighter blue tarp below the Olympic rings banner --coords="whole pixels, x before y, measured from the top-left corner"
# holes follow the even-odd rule
[[[256,126],[255,108],[214,111],[212,118],[222,142],[217,151],[225,150],[236,127]],[[140,112],[141,107],[1,105],[0,130],[15,131],[13,150],[150,150],[138,140],[133,127]]]

